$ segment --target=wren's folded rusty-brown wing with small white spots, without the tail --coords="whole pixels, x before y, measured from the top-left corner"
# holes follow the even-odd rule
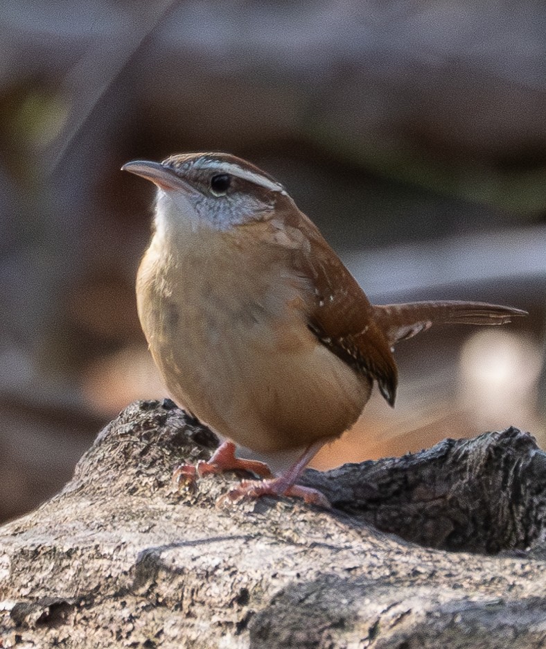
[[[375,379],[394,405],[398,371],[390,345],[373,318],[373,307],[318,228],[301,212],[285,211],[283,235],[304,241],[294,249],[294,266],[312,287],[308,326],[320,342],[368,379]]]

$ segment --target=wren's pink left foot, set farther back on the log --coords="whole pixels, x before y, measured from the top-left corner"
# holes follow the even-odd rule
[[[197,478],[209,474],[218,474],[222,471],[231,471],[235,469],[251,471],[262,478],[272,478],[273,474],[270,468],[264,462],[258,460],[243,460],[235,456],[235,444],[226,440],[216,449],[208,462],[200,460],[197,466],[180,465],[173,473],[173,482],[177,487],[191,488],[195,486]]]

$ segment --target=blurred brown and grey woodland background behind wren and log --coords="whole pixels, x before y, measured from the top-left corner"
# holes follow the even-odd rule
[[[154,188],[119,168],[190,150],[283,182],[373,302],[530,313],[401,343],[396,409],[315,466],[510,424],[545,445],[544,3],[17,0],[0,40],[0,519],[166,396],[134,302]]]

